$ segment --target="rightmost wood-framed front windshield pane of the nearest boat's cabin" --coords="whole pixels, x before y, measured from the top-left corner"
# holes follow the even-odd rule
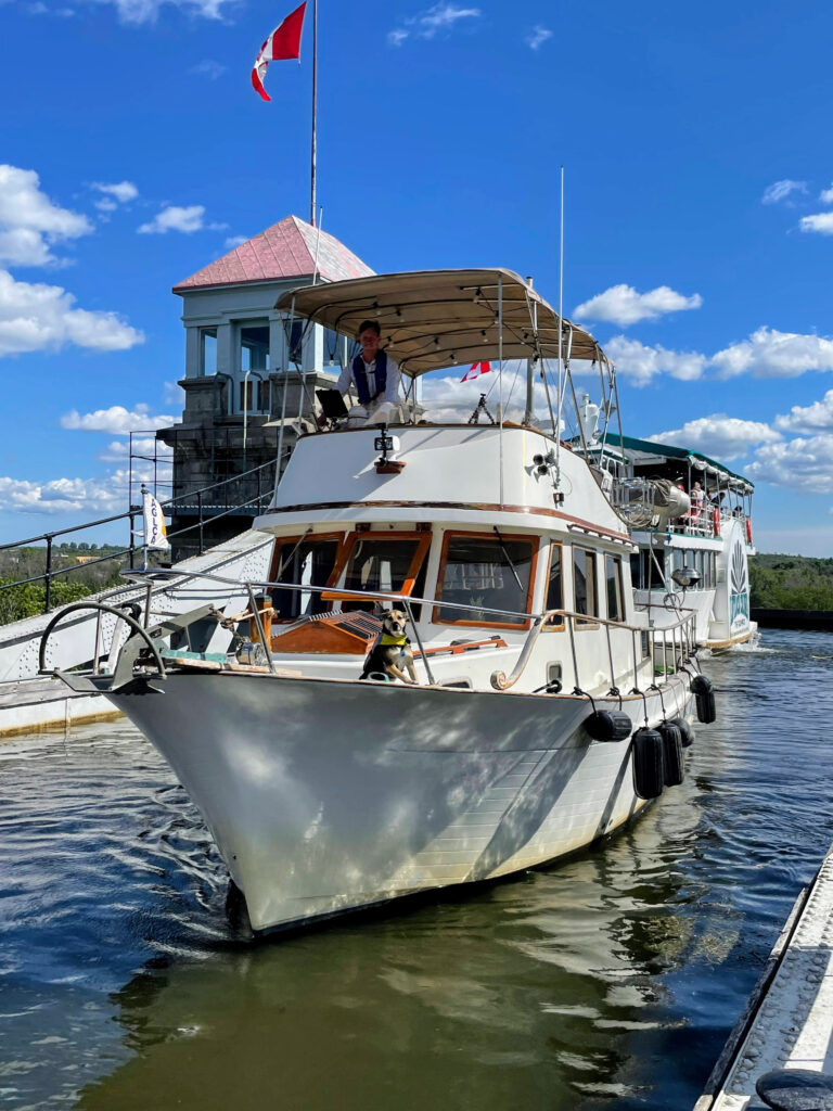
[[[440,604],[434,609],[434,621],[509,628],[528,625],[524,618],[485,611],[529,612],[535,548],[532,537],[488,533],[446,536],[439,574],[441,603],[470,605],[473,609],[459,610],[450,604]]]

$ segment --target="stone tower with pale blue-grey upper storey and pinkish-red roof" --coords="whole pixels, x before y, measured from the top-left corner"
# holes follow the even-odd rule
[[[277,461],[284,387],[281,466],[299,413],[310,416],[315,389],[332,387],[350,354],[333,332],[275,312],[278,298],[313,276],[372,273],[338,239],[288,216],[173,287],[185,327],[185,408],[157,437],[173,452],[169,531],[187,530],[171,538],[174,560],[249,528],[274,484],[264,464]]]

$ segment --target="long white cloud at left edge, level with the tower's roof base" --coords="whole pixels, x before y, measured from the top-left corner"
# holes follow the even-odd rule
[[[92,351],[124,351],[144,337],[114,312],[74,308],[60,286],[16,281],[0,270],[0,356],[57,351],[68,343]]]

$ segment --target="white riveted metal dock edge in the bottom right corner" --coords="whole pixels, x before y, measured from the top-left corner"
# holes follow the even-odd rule
[[[833,1073],[833,847],[796,899],[694,1111],[766,1111],[755,1081],[773,1069]]]

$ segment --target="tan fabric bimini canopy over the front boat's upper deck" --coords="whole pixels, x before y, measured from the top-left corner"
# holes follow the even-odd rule
[[[418,270],[324,282],[284,293],[275,304],[342,336],[379,322],[382,347],[415,378],[442,367],[498,359],[556,359],[559,316],[511,270]],[[604,360],[584,331],[563,320],[563,354]]]

